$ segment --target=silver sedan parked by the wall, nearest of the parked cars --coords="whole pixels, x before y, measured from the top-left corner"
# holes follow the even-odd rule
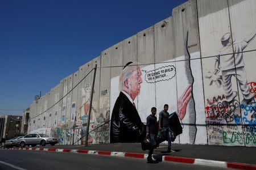
[[[20,147],[25,147],[30,145],[32,147],[36,145],[46,146],[47,144],[50,144],[53,146],[56,143],[58,143],[57,138],[52,138],[46,134],[38,134],[38,133],[28,134],[22,138],[19,138],[17,142],[17,144]]]

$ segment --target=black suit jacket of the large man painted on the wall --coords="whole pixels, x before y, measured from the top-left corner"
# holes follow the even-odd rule
[[[126,95],[120,92],[111,116],[110,142],[141,142],[146,135],[145,127],[137,109]]]

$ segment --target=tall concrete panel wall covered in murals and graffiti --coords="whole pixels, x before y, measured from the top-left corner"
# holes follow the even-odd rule
[[[138,142],[127,136],[139,134],[151,107],[158,117],[169,104],[183,124],[175,143],[255,147],[255,11],[254,0],[177,6],[172,16],[103,50],[32,103],[28,130],[50,128],[61,145],[84,143],[97,63],[89,143],[108,143],[113,134],[119,142]],[[122,94],[131,108],[120,109]],[[126,135],[127,121],[136,126]]]

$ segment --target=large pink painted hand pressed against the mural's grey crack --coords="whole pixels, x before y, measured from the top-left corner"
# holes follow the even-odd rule
[[[187,106],[188,106],[188,102],[192,97],[192,86],[191,84],[188,85],[188,87],[186,88],[186,90],[184,91],[183,95],[180,96],[179,100],[178,100],[178,109],[179,109],[179,116],[180,116],[180,120],[183,120],[186,111],[187,111]]]

